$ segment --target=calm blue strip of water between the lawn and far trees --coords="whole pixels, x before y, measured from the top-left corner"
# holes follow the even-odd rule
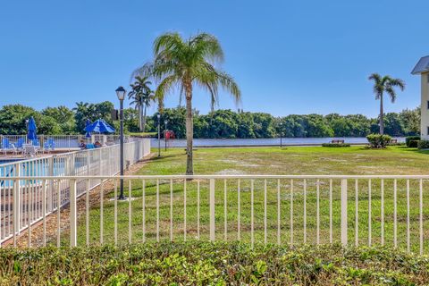
[[[321,145],[330,143],[332,139],[341,139],[345,143],[350,144],[367,144],[368,140],[365,137],[354,138],[283,138],[282,145],[284,146],[300,146],[300,145]],[[398,142],[405,142],[404,137],[394,138]],[[150,140],[152,147],[158,146],[158,139]],[[164,147],[164,139],[161,139],[161,147]],[[195,147],[234,147],[234,146],[279,146],[279,138],[269,139],[194,139]],[[167,141],[167,147],[186,147],[186,139],[170,139]]]

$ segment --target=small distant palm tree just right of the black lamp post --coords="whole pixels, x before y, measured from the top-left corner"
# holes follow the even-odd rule
[[[130,105],[134,105],[139,110],[139,130],[144,132],[146,129],[146,110],[154,98],[154,92],[149,87],[152,82],[147,80],[148,77],[136,76],[135,79],[136,81],[130,84],[131,91],[128,97],[132,98]]]

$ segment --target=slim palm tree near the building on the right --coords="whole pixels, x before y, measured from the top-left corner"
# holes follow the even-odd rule
[[[380,134],[384,134],[384,110],[383,110],[383,94],[386,92],[391,98],[391,102],[396,100],[395,87],[404,90],[405,82],[400,79],[393,79],[388,75],[381,76],[378,73],[373,73],[369,76],[368,80],[374,80],[374,94],[375,99],[380,99]]]

